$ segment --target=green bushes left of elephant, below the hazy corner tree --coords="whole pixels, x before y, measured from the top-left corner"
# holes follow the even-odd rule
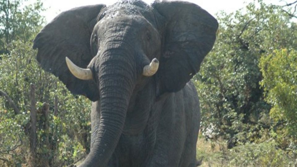
[[[37,64],[36,51],[31,49],[31,45],[31,43],[13,41],[9,47],[10,54],[2,55],[2,61],[0,61],[2,74],[0,88],[9,94],[21,111],[20,115],[14,116],[13,109],[6,99],[0,98],[0,126],[3,127],[3,130],[0,131],[0,136],[3,136],[0,138],[3,142],[0,150],[5,147],[13,147],[19,144],[20,140],[23,141],[23,144],[24,142],[28,144],[30,83],[35,83],[39,163],[44,164],[44,161],[49,161],[50,165],[54,166],[70,165],[90,149],[89,114],[91,104],[83,96],[73,96],[55,76],[42,70]],[[53,115],[55,96],[59,99],[58,116]],[[44,131],[43,128],[42,102],[50,104],[49,131]],[[8,131],[13,131],[13,133],[8,133]],[[49,148],[45,146],[45,136],[50,137]],[[23,151],[23,149],[21,150]],[[5,156],[5,159],[9,160],[7,165],[25,163],[26,154],[21,157],[20,152],[11,149],[9,155],[11,155],[10,158]],[[12,157],[19,157],[19,160]]]

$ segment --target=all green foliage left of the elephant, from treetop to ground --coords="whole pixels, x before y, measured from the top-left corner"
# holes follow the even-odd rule
[[[20,166],[30,162],[30,83],[36,87],[38,164],[70,165],[84,156],[90,146],[91,102],[73,96],[58,79],[41,69],[32,40],[43,24],[40,1],[21,9],[23,1],[1,1],[0,7],[0,89],[20,110],[15,115],[5,98],[0,97],[0,166]],[[9,12],[6,22],[6,12]],[[4,45],[2,45],[4,44]],[[54,116],[54,98],[58,114]],[[45,130],[42,103],[49,106],[49,129]]]

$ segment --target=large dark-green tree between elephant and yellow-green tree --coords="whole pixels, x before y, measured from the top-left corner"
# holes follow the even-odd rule
[[[281,7],[258,4],[220,14],[217,41],[194,78],[206,137],[255,142],[273,128],[258,63],[275,49],[296,49],[297,25]]]

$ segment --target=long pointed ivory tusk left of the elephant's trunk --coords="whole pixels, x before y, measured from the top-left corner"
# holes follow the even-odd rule
[[[93,74],[91,69],[84,69],[76,66],[69,58],[66,57],[66,64],[69,71],[78,79],[89,80],[93,79]]]

